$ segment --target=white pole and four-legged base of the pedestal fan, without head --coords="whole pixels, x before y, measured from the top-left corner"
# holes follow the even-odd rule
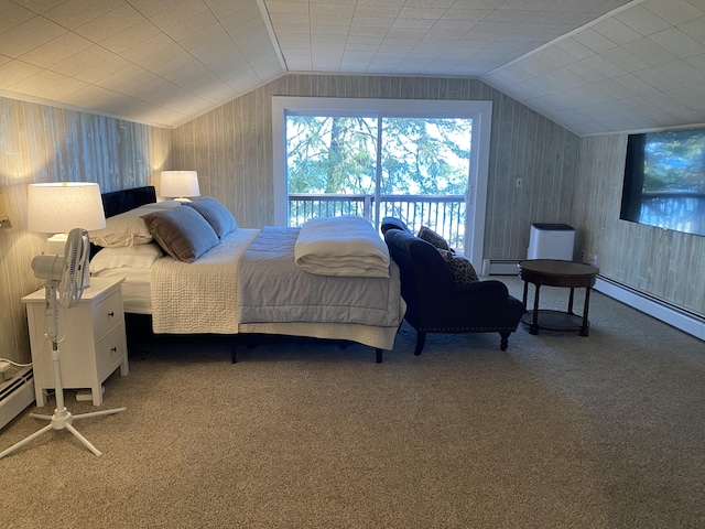
[[[29,435],[28,438],[23,439],[19,443],[10,446],[4,452],[0,453],[0,458],[4,457],[6,455],[11,454],[12,452],[18,450],[19,447],[24,446],[26,443],[29,443],[33,439],[39,438],[40,435],[42,435],[45,432],[48,432],[50,430],[68,430],[90,452],[93,452],[97,456],[100,456],[100,455],[102,455],[102,452],[100,452],[98,449],[96,449],[90,443],[90,441],[88,441],[86,438],[84,438],[80,434],[80,432],[74,428],[74,425],[73,425],[74,420],[76,420],[76,419],[87,419],[87,418],[90,418],[90,417],[110,415],[110,414],[119,413],[121,411],[126,411],[127,410],[127,408],[116,408],[113,410],[101,410],[101,411],[94,411],[94,412],[90,412],[90,413],[79,413],[79,414],[74,415],[64,406],[64,387],[63,387],[63,384],[62,384],[62,366],[61,366],[61,356],[62,355],[61,355],[61,352],[58,349],[58,312],[57,312],[57,302],[56,302],[56,289],[58,287],[58,283],[59,283],[59,281],[57,281],[57,280],[53,280],[53,279],[48,280],[46,282],[46,290],[45,290],[45,293],[46,293],[47,327],[50,327],[48,319],[51,317],[52,321],[53,321],[53,325],[51,325],[51,327],[47,328],[47,333],[46,334],[50,337],[50,339],[52,341],[52,363],[53,363],[53,366],[54,366],[54,387],[55,387],[55,393],[56,393],[56,409],[54,410],[54,414],[53,415],[44,415],[44,414],[40,414],[40,413],[30,413],[30,417],[33,417],[35,419],[41,419],[41,420],[44,420],[44,421],[50,421],[50,423],[46,427],[44,427],[41,430],[39,430],[37,432],[33,433],[32,435]]]

